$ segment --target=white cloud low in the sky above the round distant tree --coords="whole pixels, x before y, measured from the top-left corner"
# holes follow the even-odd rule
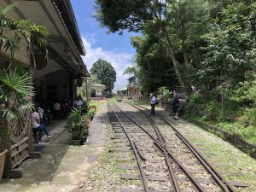
[[[101,47],[94,49],[91,48],[91,44],[86,41],[85,38],[82,39],[86,50],[86,55],[82,58],[88,71],[98,59],[108,61],[112,64],[117,73],[113,90],[119,90],[121,87],[126,86],[126,84],[128,84],[127,79],[129,78],[129,75],[124,76],[123,73],[127,67],[131,67],[133,55],[125,52],[118,53],[115,51],[103,50]]]

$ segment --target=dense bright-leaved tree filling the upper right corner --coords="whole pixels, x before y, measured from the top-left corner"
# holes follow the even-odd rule
[[[208,80],[218,79],[235,85],[255,69],[256,3],[232,3],[220,13],[211,32],[202,36],[207,46],[200,74]]]

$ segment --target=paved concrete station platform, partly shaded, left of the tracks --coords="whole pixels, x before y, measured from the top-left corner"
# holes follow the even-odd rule
[[[5,178],[0,183],[3,192],[79,192],[90,171],[97,165],[103,152],[108,124],[106,103],[97,108],[91,130],[84,145],[73,146],[64,130],[65,120],[56,121],[49,131],[53,137],[44,137],[44,143],[35,144],[41,152],[39,159],[27,159],[19,167],[21,178]]]

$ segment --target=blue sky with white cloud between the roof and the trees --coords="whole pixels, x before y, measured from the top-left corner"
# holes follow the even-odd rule
[[[127,79],[130,75],[124,76],[123,72],[134,62],[136,49],[131,46],[130,37],[137,34],[128,32],[124,32],[122,36],[118,33],[107,34],[108,29],[102,28],[92,18],[95,14],[94,0],[71,0],[71,3],[86,50],[83,60],[87,69],[90,70],[99,58],[110,62],[117,73],[113,90],[119,90],[128,84]]]

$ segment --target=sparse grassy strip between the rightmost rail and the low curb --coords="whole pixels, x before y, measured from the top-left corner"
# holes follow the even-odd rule
[[[220,138],[215,138],[211,133],[206,134],[204,131],[200,131],[200,128],[195,125],[187,124],[181,131],[189,132],[189,142],[203,143],[203,148],[208,148],[208,150],[202,150],[201,154],[207,156],[207,160],[212,163],[218,172],[242,173],[241,176],[224,174],[224,178],[226,180],[241,181],[249,184],[248,188],[238,188],[236,191],[256,191],[256,180],[254,179],[256,174],[256,161],[249,157],[249,155],[233,148],[229,143],[225,143]],[[218,164],[224,164],[227,166],[217,166]]]

